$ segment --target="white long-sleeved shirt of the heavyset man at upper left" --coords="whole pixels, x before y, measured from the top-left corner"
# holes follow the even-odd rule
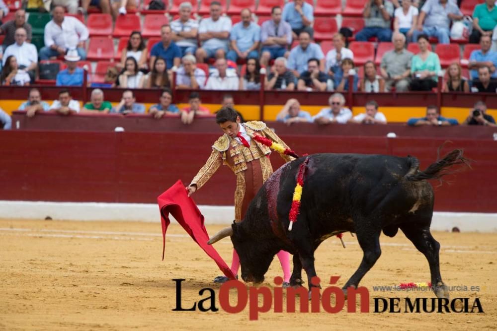
[[[77,18],[65,16],[62,28],[54,20],[45,25],[45,46],[53,44],[66,48],[76,49],[78,43],[88,39],[86,26]]]

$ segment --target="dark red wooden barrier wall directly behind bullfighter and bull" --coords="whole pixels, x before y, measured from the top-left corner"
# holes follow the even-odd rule
[[[219,133],[0,131],[0,199],[154,203],[177,179],[189,182]],[[298,153],[378,153],[435,161],[444,138],[282,134]],[[497,212],[497,141],[452,139],[473,170],[435,188],[435,209]],[[274,168],[283,162],[271,156]],[[437,182],[433,183],[437,186]],[[235,176],[221,167],[194,195],[199,204],[233,204]]]

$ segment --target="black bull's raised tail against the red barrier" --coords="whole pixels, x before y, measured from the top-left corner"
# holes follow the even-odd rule
[[[440,152],[440,149],[438,151]],[[438,159],[436,162],[430,164],[424,171],[420,171],[417,168],[419,165],[417,163],[415,167],[416,171],[409,171],[404,178],[409,181],[421,181],[425,179],[438,179],[441,181],[443,176],[457,172],[457,170],[450,171],[452,166],[464,164],[471,168],[470,162],[471,160],[463,156],[462,149],[454,149],[442,159]],[[411,167],[412,170],[413,168]]]

